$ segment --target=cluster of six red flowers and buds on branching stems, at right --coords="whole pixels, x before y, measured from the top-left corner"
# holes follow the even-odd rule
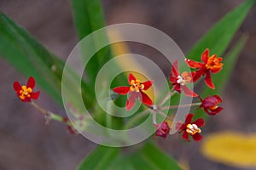
[[[194,71],[183,71],[180,73],[178,69],[177,60],[173,63],[169,81],[172,86],[172,93],[176,92],[177,94],[185,94],[190,97],[198,98],[200,100],[199,103],[191,104],[191,105],[181,105],[181,106],[193,106],[198,105],[198,109],[203,108],[209,116],[217,115],[220,111],[223,110],[222,107],[218,105],[222,102],[222,99],[218,95],[207,96],[205,99],[202,99],[199,94],[196,94],[194,91],[189,89],[188,84],[194,83],[198,81],[201,77],[204,77],[204,80],[209,88],[214,89],[215,86],[212,82],[211,74],[218,73],[222,70],[223,63],[221,63],[222,58],[217,57],[216,54],[212,56],[209,55],[209,49],[206,49],[201,54],[202,62],[198,62],[192,59],[185,59],[185,63],[189,65],[191,69]],[[175,109],[179,105],[171,105],[171,106],[162,106],[163,104],[154,105],[153,101],[145,94],[145,91],[148,90],[152,86],[153,81],[141,82],[132,74],[129,75],[128,78],[129,87],[117,87],[113,88],[113,92],[116,94],[125,95],[128,94],[128,100],[126,102],[126,110],[130,111],[134,106],[137,99],[139,99],[144,105],[147,105],[149,108],[154,110],[154,112],[161,116],[166,116],[162,111],[165,109]],[[171,98],[172,95],[166,95],[166,98]],[[165,100],[165,99],[163,99]],[[205,125],[205,122],[202,118],[194,119],[194,114],[189,113],[184,117],[185,121],[177,122],[176,130],[179,133],[183,133],[182,138],[190,141],[189,136],[195,141],[201,141],[203,137],[201,136],[201,127]],[[153,124],[156,128],[156,132],[154,136],[160,136],[166,139],[167,135],[170,132],[172,127],[172,118],[166,116],[166,120],[161,123],[156,123],[156,119],[153,116]]]

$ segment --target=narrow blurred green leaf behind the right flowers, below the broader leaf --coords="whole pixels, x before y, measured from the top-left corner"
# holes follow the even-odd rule
[[[207,95],[213,95],[213,94],[222,94],[224,87],[226,86],[227,82],[230,80],[230,75],[232,71],[234,71],[236,66],[236,60],[239,57],[239,54],[241,53],[242,48],[245,46],[247,42],[247,37],[243,36],[241,37],[236,45],[230,50],[230,52],[224,57],[223,63],[224,67],[223,70],[218,73],[215,77],[212,77],[212,81],[215,82],[215,90],[212,90],[212,88],[204,87],[201,91],[202,97],[207,97]],[[204,111],[198,110],[196,111],[195,118],[197,117],[205,117],[207,116]]]

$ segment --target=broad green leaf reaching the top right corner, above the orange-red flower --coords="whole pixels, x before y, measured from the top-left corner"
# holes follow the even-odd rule
[[[221,56],[230,44],[236,31],[241,26],[250,8],[253,7],[255,0],[247,0],[226,14],[221,20],[207,31],[204,37],[196,42],[195,46],[189,51],[189,59],[201,59],[204,49],[210,48],[211,54]]]

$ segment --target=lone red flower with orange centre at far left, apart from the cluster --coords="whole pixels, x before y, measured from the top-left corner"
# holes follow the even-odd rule
[[[33,88],[36,85],[36,81],[33,77],[29,77],[26,86],[20,86],[19,82],[14,82],[14,88],[17,96],[23,102],[31,102],[31,99],[38,99],[40,92],[33,92]]]

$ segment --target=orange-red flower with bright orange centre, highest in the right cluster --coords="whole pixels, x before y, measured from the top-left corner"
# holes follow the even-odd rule
[[[205,82],[207,83],[207,86],[215,89],[210,73],[218,73],[218,71],[222,70],[222,67],[224,65],[223,63],[221,63],[222,58],[217,58],[216,54],[209,56],[209,49],[207,48],[201,54],[201,60],[203,61],[203,63],[197,62],[192,59],[185,59],[187,65],[189,65],[190,68],[197,69],[197,71],[193,72],[193,82],[197,81],[201,76],[206,75]]]

